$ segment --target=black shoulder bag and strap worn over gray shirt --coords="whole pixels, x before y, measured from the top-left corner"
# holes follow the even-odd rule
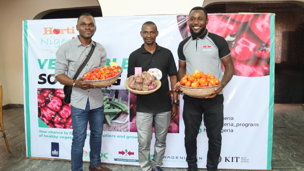
[[[94,42],[94,41],[93,41],[93,43],[96,44],[96,42]],[[94,49],[95,49],[95,46],[92,44],[92,48],[91,48],[89,54],[87,55],[87,58],[85,58],[85,61],[83,61],[81,66],[78,68],[76,74],[73,77],[73,80],[76,80],[78,75],[80,74],[80,72],[83,70],[83,68],[85,68],[85,65],[87,65],[89,59],[91,58],[91,56],[94,52]],[[64,102],[67,104],[71,103],[72,86],[64,85],[63,91],[64,91]]]

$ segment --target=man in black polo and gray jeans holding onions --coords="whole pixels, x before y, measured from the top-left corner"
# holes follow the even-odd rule
[[[170,50],[156,44],[158,35],[156,25],[148,21],[143,24],[141,32],[144,44],[132,52],[128,61],[128,74],[134,75],[135,67],[141,67],[161,81],[161,88],[147,94],[137,94],[136,98],[136,129],[138,134],[138,158],[140,171],[163,171],[160,166],[166,148],[166,136],[170,126],[170,118],[178,112],[178,93],[173,93],[173,104],[169,91],[168,75],[171,89],[177,83],[177,69]],[[152,139],[152,124],[155,121],[154,155],[150,163],[150,144]]]

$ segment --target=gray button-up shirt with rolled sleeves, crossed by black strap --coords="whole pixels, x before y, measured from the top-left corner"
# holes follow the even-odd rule
[[[83,75],[94,68],[103,68],[107,63],[107,54],[105,48],[97,43],[94,44],[93,41],[88,46],[82,45],[78,37],[69,40],[68,42],[62,44],[56,52],[56,62],[55,62],[55,77],[59,74],[66,74],[68,77],[73,79],[80,65],[85,61],[89,51],[92,46],[96,46],[95,50],[88,61],[85,68],[78,75],[78,78],[83,77]],[[96,109],[103,105],[103,95],[101,88],[94,89],[72,89],[71,94],[71,105],[79,109],[85,110],[87,100],[90,101],[90,109]]]

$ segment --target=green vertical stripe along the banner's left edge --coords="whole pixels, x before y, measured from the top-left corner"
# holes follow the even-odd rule
[[[27,42],[27,21],[23,21],[24,28],[24,83],[25,83],[25,102],[26,102],[26,140],[27,156],[31,157],[31,124],[29,115],[29,45]]]

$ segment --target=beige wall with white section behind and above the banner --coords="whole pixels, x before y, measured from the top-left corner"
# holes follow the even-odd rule
[[[233,2],[258,3],[247,0]],[[0,0],[0,80],[3,88],[3,105],[23,104],[22,20],[31,20],[38,14],[52,9],[77,8],[101,5],[103,16],[187,14],[194,6],[224,3],[229,0]],[[153,3],[154,2],[154,3]],[[259,1],[265,2],[265,1]],[[293,2],[304,6],[301,1]]]

